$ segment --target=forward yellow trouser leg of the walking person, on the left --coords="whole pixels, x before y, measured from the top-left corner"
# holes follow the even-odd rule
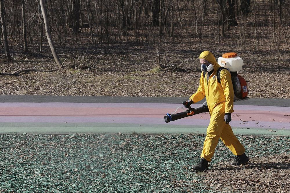
[[[217,106],[211,113],[211,120],[206,130],[206,137],[203,143],[203,150],[200,157],[207,161],[211,161],[215,152],[215,147],[225,127],[224,121],[224,105]]]

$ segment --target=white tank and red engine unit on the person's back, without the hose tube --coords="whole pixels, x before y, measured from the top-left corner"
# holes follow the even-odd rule
[[[249,99],[248,93],[249,88],[247,82],[242,76],[238,75],[237,72],[243,69],[243,59],[238,56],[235,52],[229,52],[222,54],[222,57],[218,58],[218,64],[231,72],[233,90],[235,93],[234,101],[247,100]]]

